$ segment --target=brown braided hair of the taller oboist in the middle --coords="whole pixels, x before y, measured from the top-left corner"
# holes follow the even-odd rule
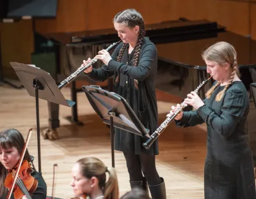
[[[145,36],[145,24],[143,21],[143,18],[138,11],[134,9],[127,9],[124,11],[120,11],[117,13],[113,20],[114,23],[125,23],[128,27],[140,27],[139,37],[138,41],[136,43],[136,46],[134,47],[134,60],[132,63],[132,66],[138,66],[140,53],[141,53],[141,46],[143,44],[143,37]],[[124,54],[124,50],[129,45],[128,43],[124,43],[122,48],[119,50],[118,56],[116,61],[120,62],[122,55]],[[115,80],[115,84],[117,84],[120,80],[120,76],[118,75]],[[134,79],[134,86],[136,89],[138,89],[138,80]]]

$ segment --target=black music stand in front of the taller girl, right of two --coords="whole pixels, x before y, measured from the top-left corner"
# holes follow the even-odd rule
[[[150,137],[148,135],[149,129],[146,129],[141,124],[130,105],[122,96],[115,94],[115,92],[101,89],[96,85],[84,85],[82,89],[100,119],[110,126],[111,158],[112,166],[115,167],[114,126],[136,135],[148,136],[148,138]]]

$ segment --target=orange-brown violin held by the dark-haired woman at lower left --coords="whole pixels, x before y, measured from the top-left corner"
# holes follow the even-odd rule
[[[13,168],[4,180],[4,186],[8,189],[12,188],[13,177],[15,177],[16,170],[17,168]],[[15,199],[20,199],[24,195],[26,195],[27,198],[31,198],[29,196],[31,196],[36,190],[38,181],[31,176],[31,172],[31,163],[23,160],[18,173],[16,185],[13,188],[13,195]]]

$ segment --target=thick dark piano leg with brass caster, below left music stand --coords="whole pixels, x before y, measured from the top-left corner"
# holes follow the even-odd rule
[[[49,111],[49,128],[43,130],[44,139],[56,140],[59,138],[57,128],[60,127],[59,107],[60,105],[47,101]]]

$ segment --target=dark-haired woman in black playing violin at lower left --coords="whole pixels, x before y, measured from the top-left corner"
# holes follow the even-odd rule
[[[8,195],[8,188],[4,184],[12,183],[6,182],[8,178],[7,175],[13,169],[17,169],[20,156],[22,154],[22,149],[24,147],[24,138],[19,131],[16,129],[6,129],[0,133],[0,198],[6,198]],[[47,187],[42,175],[36,172],[33,163],[31,161],[31,156],[29,156],[28,150],[25,153],[23,161],[26,160],[31,164],[31,177],[38,181],[37,187],[31,197],[22,195],[24,198],[33,199],[44,199],[46,198]],[[29,165],[30,165],[29,164]],[[17,183],[16,183],[17,184]],[[11,198],[15,198],[15,190],[12,192]],[[28,190],[28,188],[27,188]],[[14,193],[14,194],[13,194]],[[15,198],[16,199],[16,198]]]

